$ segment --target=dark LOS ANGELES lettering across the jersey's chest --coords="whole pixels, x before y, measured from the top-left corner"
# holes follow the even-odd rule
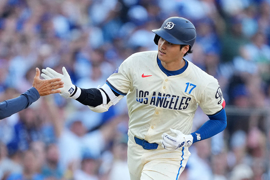
[[[137,89],[137,96],[136,101],[142,104],[148,104],[149,103],[149,91],[142,91]],[[154,105],[156,107],[163,107],[168,108],[172,110],[185,110],[187,109],[187,106],[189,104],[189,101],[191,101],[190,97],[185,96],[176,96],[176,95],[170,95],[160,92],[153,92],[152,97],[150,99],[150,105]]]

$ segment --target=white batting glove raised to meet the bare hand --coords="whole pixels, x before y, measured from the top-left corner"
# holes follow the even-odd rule
[[[62,68],[63,74],[60,74],[49,67],[46,67],[46,69],[42,69],[42,72],[43,73],[41,74],[41,76],[44,77],[45,79],[52,79],[55,77],[61,78],[61,80],[64,82],[64,87],[59,88],[61,90],[59,94],[64,98],[69,98],[74,93],[76,87],[75,85],[72,84],[70,76],[67,73],[65,67]]]

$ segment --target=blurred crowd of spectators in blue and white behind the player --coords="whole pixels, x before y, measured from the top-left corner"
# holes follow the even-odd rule
[[[0,102],[32,87],[35,67],[103,85],[129,55],[157,50],[151,30],[170,16],[195,25],[186,59],[218,79],[228,107],[227,128],[190,147],[180,179],[270,180],[270,0],[1,0]],[[128,180],[127,112],[125,99],[93,113],[40,98],[0,122],[0,179]],[[193,131],[207,120],[198,109]]]

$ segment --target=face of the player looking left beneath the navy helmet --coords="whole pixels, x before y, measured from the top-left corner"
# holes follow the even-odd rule
[[[158,58],[164,63],[179,63],[184,54],[188,51],[188,46],[180,49],[179,44],[172,44],[163,38],[158,40]]]

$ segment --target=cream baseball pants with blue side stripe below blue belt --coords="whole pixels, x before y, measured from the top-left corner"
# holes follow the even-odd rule
[[[135,143],[128,131],[128,169],[131,180],[172,180],[179,179],[190,156],[188,148],[168,151],[162,148],[143,149]]]

